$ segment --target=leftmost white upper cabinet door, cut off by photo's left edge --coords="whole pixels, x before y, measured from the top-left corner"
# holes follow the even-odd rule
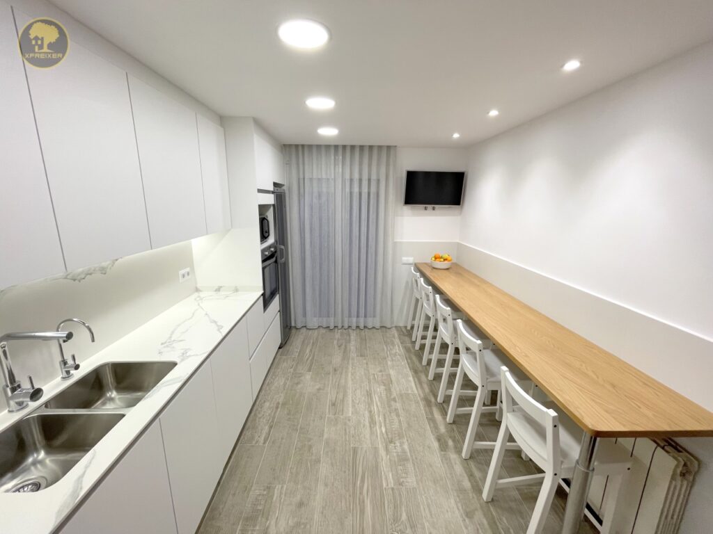
[[[28,68],[30,70],[31,67]],[[10,6],[0,1],[0,289],[65,270]]]

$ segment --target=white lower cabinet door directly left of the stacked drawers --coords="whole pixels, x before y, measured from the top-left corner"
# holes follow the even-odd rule
[[[252,407],[247,322],[240,321],[210,357],[223,464]]]

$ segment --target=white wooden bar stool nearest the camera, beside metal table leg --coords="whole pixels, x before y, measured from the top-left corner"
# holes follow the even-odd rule
[[[542,479],[543,486],[527,530],[527,534],[539,534],[545,526],[558,483],[562,478],[571,478],[574,474],[583,430],[566,415],[558,416],[553,409],[539,404],[526,394],[504,366],[501,368],[501,382],[503,422],[488,469],[486,485],[483,488],[483,501],[492,501],[496,488],[520,486],[523,483]],[[498,480],[510,434],[522,447],[523,452],[545,471],[544,473]],[[594,475],[609,476],[612,484],[607,491],[605,505],[607,516],[602,525],[602,534],[610,532],[621,479],[630,466],[631,459],[624,447],[611,440],[600,440],[597,446]]]

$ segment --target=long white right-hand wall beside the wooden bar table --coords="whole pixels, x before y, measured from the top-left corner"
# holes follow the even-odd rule
[[[713,44],[473,147],[458,261],[713,409]],[[682,533],[713,520],[713,440]]]

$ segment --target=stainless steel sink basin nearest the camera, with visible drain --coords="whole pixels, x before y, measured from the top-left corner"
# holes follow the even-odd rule
[[[51,486],[91,451],[123,413],[40,413],[0,433],[0,492]]]

